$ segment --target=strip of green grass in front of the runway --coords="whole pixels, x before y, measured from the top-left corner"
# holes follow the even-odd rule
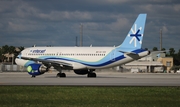
[[[180,87],[0,86],[1,107],[180,107]]]

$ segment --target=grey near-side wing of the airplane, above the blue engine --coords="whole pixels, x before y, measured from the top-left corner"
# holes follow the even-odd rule
[[[62,61],[53,61],[53,60],[46,60],[46,59],[40,59],[40,58],[31,58],[31,57],[21,57],[21,59],[24,60],[31,60],[35,61],[37,63],[42,63],[47,67],[53,66],[55,69],[56,68],[63,68],[63,69],[72,69],[73,66],[70,63],[62,62]]]

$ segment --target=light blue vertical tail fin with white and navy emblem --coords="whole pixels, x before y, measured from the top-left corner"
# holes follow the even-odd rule
[[[128,35],[119,48],[140,49],[143,40],[146,14],[139,14]]]

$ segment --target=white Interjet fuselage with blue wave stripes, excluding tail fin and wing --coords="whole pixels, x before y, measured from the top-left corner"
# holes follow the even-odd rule
[[[148,51],[139,52],[138,59],[146,55]],[[115,47],[31,47],[23,50],[21,57],[65,62],[71,64],[73,69],[108,68],[134,60]],[[38,62],[16,58],[16,63],[27,67]]]

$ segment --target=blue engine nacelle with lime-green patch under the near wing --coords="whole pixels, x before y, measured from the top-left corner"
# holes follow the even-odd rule
[[[30,64],[27,67],[27,71],[30,75],[37,76],[47,72],[47,67],[42,64]]]

